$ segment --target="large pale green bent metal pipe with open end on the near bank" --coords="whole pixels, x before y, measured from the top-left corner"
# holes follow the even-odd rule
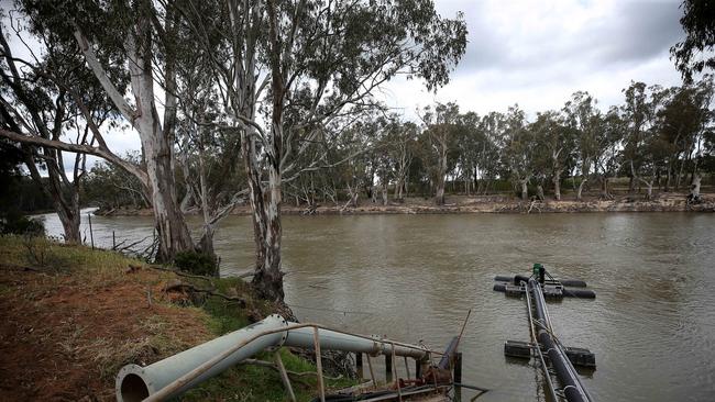
[[[296,325],[299,324],[287,322],[279,315],[271,315],[255,324],[184,350],[150,366],[124,366],[117,376],[117,400],[120,402],[142,401],[168,386],[172,386],[172,388],[168,388],[172,391],[168,393],[166,393],[166,390],[160,392],[166,393],[163,398],[168,399],[179,395],[200,382],[270,347],[285,345],[312,349],[315,347],[314,327],[290,328]],[[286,328],[286,331],[280,331],[282,328]],[[430,353],[421,346],[394,343],[376,336],[352,335],[327,328],[319,328],[318,334],[321,349],[392,355],[394,347],[395,355],[416,359],[426,359]],[[197,370],[202,365],[209,366],[210,364],[207,365],[207,362],[216,359],[221,354],[228,354],[231,348],[242,344],[245,345],[185,384],[177,381],[183,377],[191,377],[189,375],[191,371]]]

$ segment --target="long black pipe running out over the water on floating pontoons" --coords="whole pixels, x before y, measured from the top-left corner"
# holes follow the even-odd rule
[[[569,402],[587,402],[588,397],[581,383],[581,380],[576,376],[576,370],[569,361],[565,353],[561,347],[553,340],[549,331],[549,323],[547,320],[547,306],[543,300],[543,293],[541,292],[541,286],[536,279],[529,280],[529,291],[534,295],[534,306],[536,310],[536,319],[540,324],[539,330],[537,331],[537,338],[541,344],[541,348],[547,350],[549,355],[549,360],[551,366],[557,372],[557,377],[561,382],[563,389],[563,394]],[[547,331],[547,328],[549,331]]]

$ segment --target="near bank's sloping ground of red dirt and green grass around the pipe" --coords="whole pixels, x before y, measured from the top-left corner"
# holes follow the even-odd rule
[[[277,306],[240,279],[189,278],[120,254],[43,237],[0,237],[0,400],[113,401],[114,376],[243,327]],[[228,297],[190,291],[211,289]],[[280,349],[300,401],[316,393],[315,366]],[[282,401],[273,353],[183,397],[187,401]],[[264,362],[264,364],[261,364]],[[354,381],[332,375],[329,387]]]

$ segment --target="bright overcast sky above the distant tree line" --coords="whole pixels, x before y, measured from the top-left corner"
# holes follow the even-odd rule
[[[530,116],[586,90],[602,109],[623,101],[630,80],[681,85],[669,48],[684,33],[680,0],[436,0],[443,16],[464,12],[466,54],[451,82],[431,93],[391,82],[385,101],[417,107],[455,101],[480,114],[518,103]]]

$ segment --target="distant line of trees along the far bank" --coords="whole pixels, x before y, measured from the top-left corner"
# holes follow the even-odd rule
[[[346,163],[306,171],[285,192],[296,204],[318,199],[355,206],[361,193],[386,204],[388,189],[398,202],[429,191],[443,204],[447,182],[486,194],[504,190],[506,180],[525,200],[529,188],[560,200],[570,179],[578,200],[586,188],[613,199],[609,182],[617,177],[629,179],[631,193],[645,188],[647,199],[653,187],[689,191],[715,168],[713,91],[712,76],[672,88],[631,82],[624,103],[607,112],[579,91],[560,110],[530,120],[518,105],[477,115],[437,104],[420,111],[418,124],[372,114],[326,143],[331,160]]]

